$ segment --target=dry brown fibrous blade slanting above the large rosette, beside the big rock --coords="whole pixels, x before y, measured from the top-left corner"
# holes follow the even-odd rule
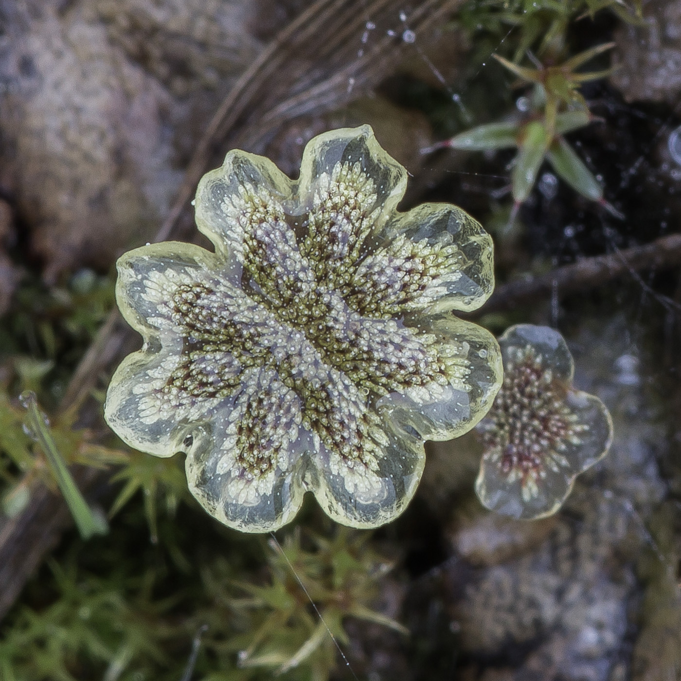
[[[215,112],[156,240],[176,236],[180,215],[216,146],[223,153],[234,146],[262,152],[273,129],[291,118],[323,113],[366,93],[390,74],[407,46],[401,37],[405,22],[418,35],[460,3],[424,0],[405,21],[400,0],[318,0],[311,5],[262,52]],[[365,46],[361,36],[369,23],[381,37]]]

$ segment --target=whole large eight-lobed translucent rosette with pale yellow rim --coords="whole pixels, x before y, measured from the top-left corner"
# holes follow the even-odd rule
[[[144,346],[106,419],[131,447],[185,452],[191,492],[228,526],[279,528],[308,490],[340,523],[388,522],[424,440],[492,404],[496,340],[451,314],[490,295],[492,242],[456,206],[397,212],[406,181],[366,125],[311,140],[298,180],[231,151],[196,195],[215,253],[168,242],[118,261]]]

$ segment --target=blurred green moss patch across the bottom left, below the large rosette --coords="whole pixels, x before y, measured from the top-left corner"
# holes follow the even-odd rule
[[[72,537],[1,629],[0,677],[177,681],[203,628],[192,678],[325,680],[329,631],[347,643],[347,616],[404,631],[370,609],[391,565],[368,533],[296,528],[275,543],[223,530],[216,542],[204,516],[180,516],[161,514],[156,545],[141,501],[106,539]]]

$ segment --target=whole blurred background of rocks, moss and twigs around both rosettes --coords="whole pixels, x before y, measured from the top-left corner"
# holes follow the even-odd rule
[[[678,0],[0,0],[0,678],[681,678],[680,93]],[[359,123],[494,236],[479,321],[558,326],[612,412],[553,518],[483,511],[464,437],[375,533],[239,535],[104,424],[116,257],[201,242],[229,148]]]

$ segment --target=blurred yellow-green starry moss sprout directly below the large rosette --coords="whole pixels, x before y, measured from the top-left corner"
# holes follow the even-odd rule
[[[264,586],[237,584],[247,598],[232,601],[244,618],[258,620],[255,634],[233,642],[243,645],[240,666],[264,667],[279,675],[306,665],[313,672],[311,678],[326,681],[334,667],[336,645],[349,643],[343,627],[347,616],[409,633],[368,606],[392,569],[370,549],[369,539],[369,533],[340,527],[330,539],[303,534],[300,528],[281,545],[272,538],[268,542],[272,581]]]

